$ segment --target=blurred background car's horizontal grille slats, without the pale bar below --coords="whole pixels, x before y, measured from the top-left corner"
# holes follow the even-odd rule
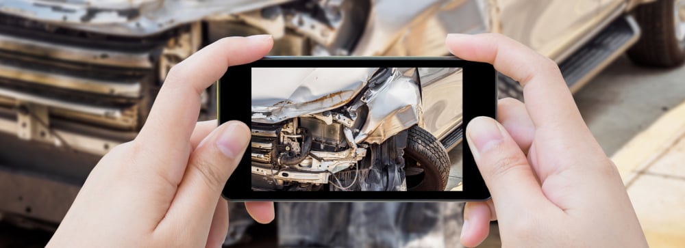
[[[0,106],[50,106],[50,117],[136,130],[166,38],[125,38],[0,14]]]

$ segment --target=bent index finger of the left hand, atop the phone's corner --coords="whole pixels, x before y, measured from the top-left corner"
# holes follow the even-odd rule
[[[266,35],[223,38],[171,68],[136,141],[145,144],[146,152],[185,165],[202,92],[219,80],[229,66],[264,57],[272,44],[271,36]],[[169,154],[186,158],[170,157]],[[179,179],[178,176],[172,178]]]

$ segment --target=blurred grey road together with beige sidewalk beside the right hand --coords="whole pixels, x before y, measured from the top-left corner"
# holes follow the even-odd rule
[[[685,66],[621,57],[577,92],[593,135],[616,164],[650,247],[685,247]]]

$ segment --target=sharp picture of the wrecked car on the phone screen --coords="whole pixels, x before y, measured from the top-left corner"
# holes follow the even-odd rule
[[[251,68],[251,190],[460,190],[462,72]]]

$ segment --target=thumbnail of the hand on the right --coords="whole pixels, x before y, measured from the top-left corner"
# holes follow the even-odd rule
[[[484,152],[502,139],[501,129],[497,121],[486,117],[471,120],[466,128],[466,135],[479,153]]]

